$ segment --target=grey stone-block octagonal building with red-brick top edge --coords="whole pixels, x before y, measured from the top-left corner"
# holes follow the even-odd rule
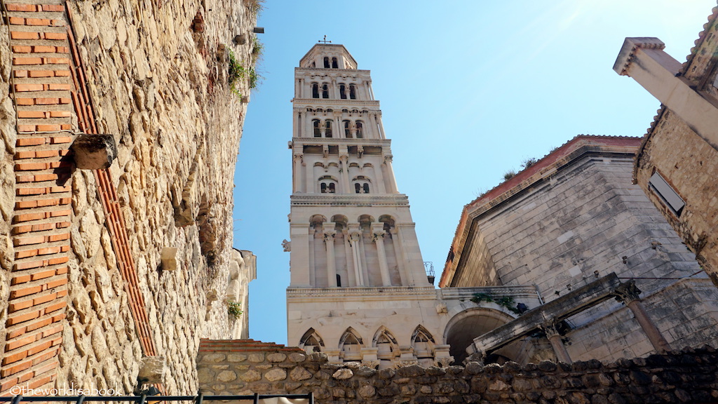
[[[501,356],[555,352],[570,362],[718,342],[717,290],[631,184],[639,146],[638,138],[576,137],[465,206],[442,290],[533,285],[542,302],[488,334],[467,329],[469,352],[513,341]]]

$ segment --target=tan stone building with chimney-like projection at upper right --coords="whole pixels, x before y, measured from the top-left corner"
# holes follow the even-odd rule
[[[626,38],[613,69],[661,101],[634,181],[718,285],[718,8],[681,65],[658,38]]]

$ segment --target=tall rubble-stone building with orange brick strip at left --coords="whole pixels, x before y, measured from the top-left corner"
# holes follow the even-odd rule
[[[2,3],[0,395],[196,392],[200,337],[247,335],[228,72],[258,2]]]

